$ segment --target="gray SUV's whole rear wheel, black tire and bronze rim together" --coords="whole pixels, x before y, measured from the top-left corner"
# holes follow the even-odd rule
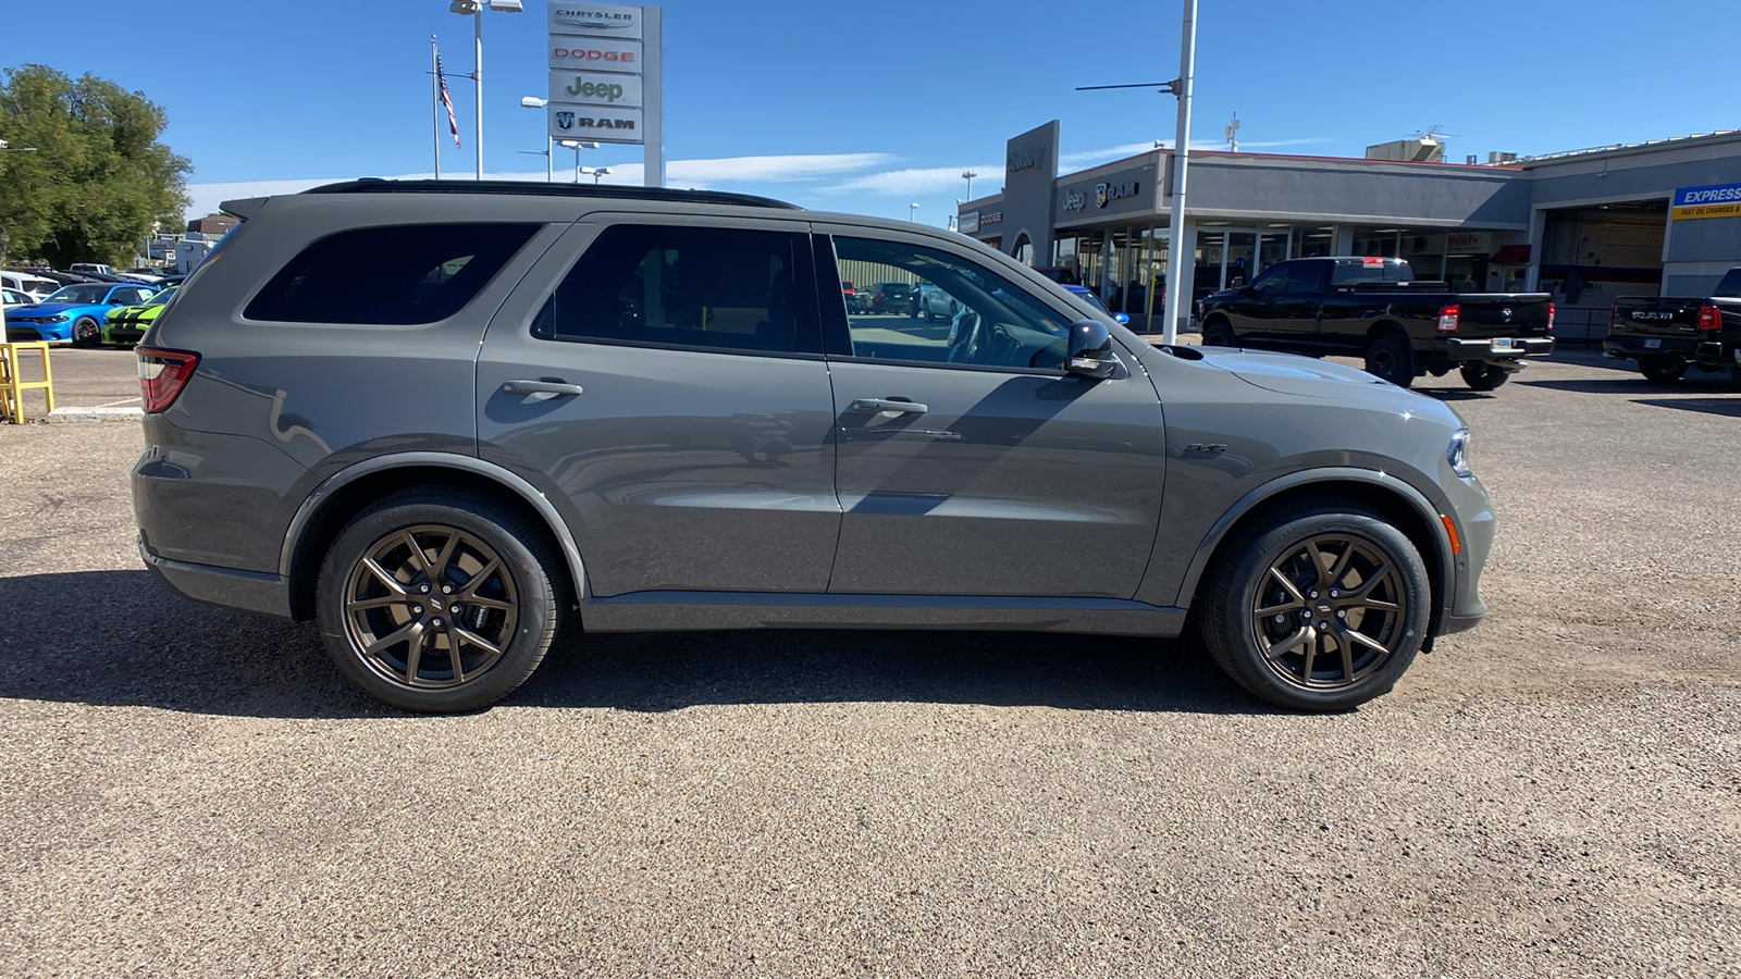
[[[402,561],[383,557],[400,552]],[[366,557],[376,557],[397,589]],[[320,564],[315,611],[333,662],[369,695],[406,711],[477,711],[543,662],[561,622],[559,568],[543,528],[494,500],[467,490],[404,490],[338,533]],[[468,669],[477,672],[467,676]]]

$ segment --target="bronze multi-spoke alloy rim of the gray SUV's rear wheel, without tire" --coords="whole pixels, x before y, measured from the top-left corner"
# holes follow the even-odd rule
[[[380,678],[453,688],[487,672],[519,625],[514,577],[487,544],[420,524],[376,540],[345,582],[345,631]]]

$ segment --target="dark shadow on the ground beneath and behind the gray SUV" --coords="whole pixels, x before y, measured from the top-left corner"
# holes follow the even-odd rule
[[[0,580],[0,697],[256,718],[397,716],[313,625],[209,608],[146,571]],[[919,702],[1259,714],[1191,641],[1031,632],[569,631],[505,706]]]

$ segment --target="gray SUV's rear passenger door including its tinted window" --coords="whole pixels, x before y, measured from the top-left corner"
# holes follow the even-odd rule
[[[806,232],[595,214],[491,321],[481,455],[559,502],[592,594],[827,589],[841,510]]]

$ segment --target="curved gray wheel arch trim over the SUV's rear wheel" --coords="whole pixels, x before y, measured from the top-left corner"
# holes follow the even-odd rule
[[[543,526],[548,542],[568,564],[568,598],[587,598],[587,568],[580,545],[550,498],[514,472],[472,456],[449,453],[395,453],[359,462],[327,477],[298,507],[284,533],[279,573],[289,585],[291,617],[313,618],[315,578],[320,561],[339,530],[369,503],[411,486],[463,486],[494,496],[534,526]]]

